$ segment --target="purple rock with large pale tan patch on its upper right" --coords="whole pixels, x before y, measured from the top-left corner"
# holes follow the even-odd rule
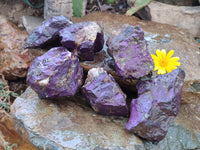
[[[62,46],[74,50],[81,60],[94,60],[104,45],[103,29],[96,22],[81,22],[59,32]]]

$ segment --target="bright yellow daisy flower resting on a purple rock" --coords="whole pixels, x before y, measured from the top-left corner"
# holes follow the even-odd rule
[[[177,66],[180,66],[181,63],[178,62],[179,57],[172,57],[174,50],[170,50],[166,55],[165,49],[156,50],[156,55],[151,54],[151,57],[154,61],[154,70],[158,70],[157,74],[170,73],[172,70],[176,69]]]

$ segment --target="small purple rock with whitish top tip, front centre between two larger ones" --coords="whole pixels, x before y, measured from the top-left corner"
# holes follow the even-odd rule
[[[92,68],[82,92],[91,107],[99,114],[127,116],[126,95],[103,68]]]

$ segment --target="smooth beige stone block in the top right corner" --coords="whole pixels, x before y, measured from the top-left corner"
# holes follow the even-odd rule
[[[148,6],[152,21],[187,29],[194,36],[200,36],[200,6],[173,6],[155,1]]]

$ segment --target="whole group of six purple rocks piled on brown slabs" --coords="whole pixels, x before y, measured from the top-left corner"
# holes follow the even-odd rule
[[[64,16],[52,17],[33,30],[24,47],[52,47],[56,44],[62,47],[53,47],[36,58],[28,71],[27,82],[41,98],[73,96],[81,89],[97,113],[129,115],[126,94],[103,68],[90,69],[84,81],[79,60],[93,61],[95,53],[104,45],[103,30],[97,23],[73,24]],[[139,81],[138,98],[132,99],[126,128],[147,140],[162,140],[178,113],[184,71],[176,69],[140,80],[153,69],[153,60],[140,26],[123,25],[110,36],[107,46],[118,76],[122,80]]]

